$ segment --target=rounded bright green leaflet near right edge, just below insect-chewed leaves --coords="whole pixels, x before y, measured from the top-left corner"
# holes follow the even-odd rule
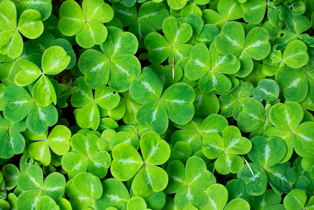
[[[300,40],[290,42],[284,49],[282,55],[283,62],[291,68],[300,68],[309,60],[307,46]]]

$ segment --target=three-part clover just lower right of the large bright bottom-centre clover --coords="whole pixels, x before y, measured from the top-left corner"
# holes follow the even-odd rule
[[[183,163],[174,160],[167,167],[169,183],[166,188],[168,194],[176,193],[175,204],[184,208],[192,204],[197,208],[204,207],[207,203],[206,190],[211,184],[216,183],[214,175],[206,168],[205,162],[197,156],[192,156]]]

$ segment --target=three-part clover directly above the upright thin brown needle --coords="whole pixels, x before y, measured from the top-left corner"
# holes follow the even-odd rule
[[[186,43],[192,37],[191,25],[170,16],[164,20],[162,29],[165,37],[157,32],[151,32],[144,39],[148,60],[152,64],[160,64],[169,57],[171,64],[172,57],[175,63],[183,57],[188,57],[192,45]]]

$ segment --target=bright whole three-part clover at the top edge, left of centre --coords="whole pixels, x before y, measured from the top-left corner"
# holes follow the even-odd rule
[[[103,15],[106,14],[106,15]],[[60,6],[59,30],[66,36],[74,36],[78,45],[91,48],[106,41],[107,28],[103,23],[113,18],[113,9],[103,0],[84,0],[82,8],[73,0]]]

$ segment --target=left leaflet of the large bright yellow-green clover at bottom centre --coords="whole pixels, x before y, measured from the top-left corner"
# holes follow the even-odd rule
[[[127,143],[116,145],[112,150],[111,173],[119,181],[131,179],[143,166],[143,160],[133,146]]]

